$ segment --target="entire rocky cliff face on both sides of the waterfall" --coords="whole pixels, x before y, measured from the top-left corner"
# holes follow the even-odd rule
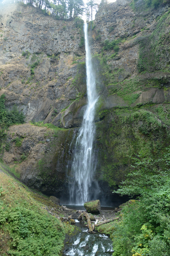
[[[169,145],[169,5],[144,9],[143,1],[135,8],[131,2],[100,8],[90,31],[100,95],[96,177],[108,193],[108,185],[124,179],[134,154],[156,157]],[[1,31],[0,94],[6,95],[6,107],[16,104],[27,122],[59,127],[11,126],[3,160],[15,165],[26,184],[49,194],[67,193],[71,141],[86,103],[82,24],[12,4],[1,10]]]

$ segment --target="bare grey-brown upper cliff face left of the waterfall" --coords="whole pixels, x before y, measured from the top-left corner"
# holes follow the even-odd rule
[[[6,107],[16,104],[23,109],[26,121],[79,126],[82,113],[77,114],[76,109],[85,104],[81,98],[86,91],[85,81],[83,86],[72,83],[77,76],[85,77],[84,70],[80,74],[78,64],[72,64],[83,62],[85,56],[84,48],[78,46],[79,28],[68,21],[63,30],[64,21],[19,3],[4,5],[0,14],[0,94],[6,95]],[[37,66],[31,71],[35,62]],[[70,105],[74,114],[64,114]]]

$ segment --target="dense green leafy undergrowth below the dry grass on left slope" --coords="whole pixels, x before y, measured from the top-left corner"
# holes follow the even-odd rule
[[[9,255],[58,255],[63,244],[60,221],[23,206],[0,208],[0,228],[10,233],[12,244]]]

